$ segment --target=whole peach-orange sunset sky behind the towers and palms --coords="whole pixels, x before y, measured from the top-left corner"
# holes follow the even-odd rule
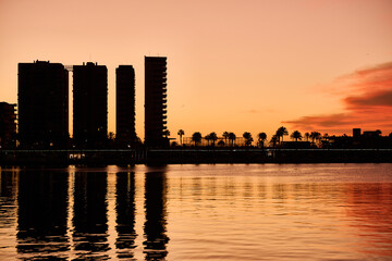
[[[161,55],[173,138],[182,128],[269,139],[280,126],[388,135],[391,28],[391,0],[0,0],[0,101],[17,102],[20,62],[98,62],[115,133],[115,67],[132,64],[143,139],[144,57]]]

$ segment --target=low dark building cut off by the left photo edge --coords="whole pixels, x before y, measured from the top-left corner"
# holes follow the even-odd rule
[[[0,102],[0,149],[16,146],[16,104]]]

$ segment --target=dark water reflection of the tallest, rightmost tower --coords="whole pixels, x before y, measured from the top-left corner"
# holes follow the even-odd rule
[[[146,260],[162,260],[168,254],[166,235],[167,225],[167,179],[164,172],[145,174],[145,211],[144,226]]]

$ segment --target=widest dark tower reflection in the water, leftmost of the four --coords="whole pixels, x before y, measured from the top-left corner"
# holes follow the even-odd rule
[[[68,177],[66,172],[20,172],[16,249],[22,257],[65,258]]]

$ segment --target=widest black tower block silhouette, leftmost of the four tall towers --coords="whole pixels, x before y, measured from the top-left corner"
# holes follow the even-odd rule
[[[61,63],[19,64],[22,147],[63,147],[69,139],[69,72]]]

